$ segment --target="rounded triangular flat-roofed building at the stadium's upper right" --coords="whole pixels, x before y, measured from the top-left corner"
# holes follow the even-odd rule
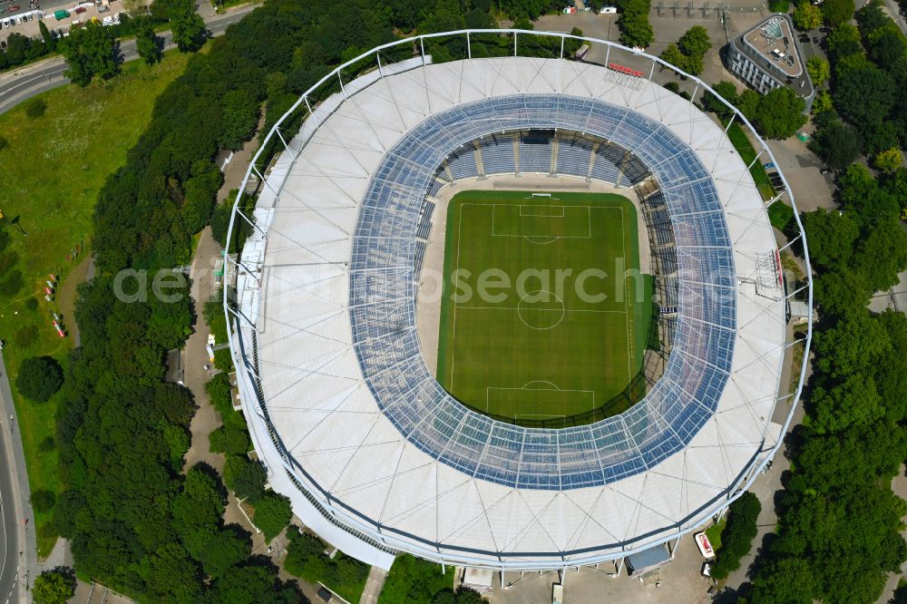
[[[727,69],[759,93],[787,86],[803,97],[806,112],[813,106],[815,88],[788,15],[775,13],[736,36],[728,46]]]

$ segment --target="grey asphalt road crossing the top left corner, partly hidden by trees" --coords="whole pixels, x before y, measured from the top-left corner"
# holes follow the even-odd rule
[[[226,15],[206,16],[205,23],[208,24],[211,34],[219,35],[230,24],[234,24],[242,17],[249,15],[254,9],[255,6],[244,6]],[[174,47],[170,32],[162,32],[159,35],[164,39],[164,50],[170,50]],[[135,40],[122,42],[120,44],[120,54],[123,62],[139,58],[139,54],[135,51]],[[63,61],[63,57],[54,57],[53,59],[24,67],[18,72],[0,74],[0,113],[9,111],[15,105],[32,98],[36,94],[44,93],[44,91],[69,83],[69,79],[63,75],[64,71],[66,71],[66,63]]]

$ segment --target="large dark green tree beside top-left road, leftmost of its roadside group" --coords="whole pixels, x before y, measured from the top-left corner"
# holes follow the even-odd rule
[[[76,85],[87,86],[95,76],[110,79],[120,70],[114,60],[116,39],[112,28],[96,21],[63,38],[59,47],[68,67],[65,75]]]

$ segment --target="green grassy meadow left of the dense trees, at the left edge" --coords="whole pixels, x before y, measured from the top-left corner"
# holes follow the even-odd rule
[[[54,272],[63,279],[77,264],[67,261],[73,248],[84,244],[82,258],[92,236],[92,211],[104,180],[125,161],[126,151],[138,140],[151,120],[154,100],[185,68],[187,55],[168,53],[161,64],[147,67],[133,62],[123,65],[121,76],[107,83],[81,89],[69,85],[44,93],[47,105],[42,117],[30,119],[20,105],[0,115],[0,132],[8,144],[0,150],[0,209],[6,220],[18,219],[18,229],[7,225],[12,248],[21,258],[18,268],[25,287],[15,300],[0,301],[0,338],[5,340],[4,358],[14,383],[16,414],[22,430],[25,461],[32,491],[58,492],[56,452],[41,451],[39,444],[54,436],[57,397],[44,404],[25,401],[15,393],[15,376],[27,356],[51,355],[62,363],[73,338],[59,338],[51,326],[51,311],[72,307],[58,297],[44,301],[44,280]],[[81,259],[81,258],[80,258]],[[61,287],[72,290],[72,287]],[[29,298],[38,300],[29,310]],[[38,328],[28,346],[17,343],[24,326]],[[64,326],[74,326],[71,316]],[[39,555],[46,555],[56,537],[47,528],[48,513],[36,514]]]

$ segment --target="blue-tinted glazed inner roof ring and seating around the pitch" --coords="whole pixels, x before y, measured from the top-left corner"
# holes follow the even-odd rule
[[[426,193],[437,190],[435,174],[444,175],[437,170],[446,161],[455,180],[478,176],[476,141],[484,173],[515,173],[514,132],[540,128],[612,141],[596,151],[592,178],[614,182],[622,174],[622,184],[629,184],[647,178],[651,167],[661,192],[647,200],[649,210],[667,211],[676,237],[676,247],[659,248],[655,258],[659,277],[676,273],[678,283],[676,299],[664,300],[678,307],[678,317],[662,319],[677,322],[664,375],[625,413],[561,430],[504,424],[464,407],[428,372],[415,329],[414,281],[424,258],[424,241],[416,236],[430,224],[423,204]],[[591,146],[570,142],[582,138],[559,140],[559,171],[586,175]],[[540,171],[551,170],[551,145],[524,158],[525,146],[521,170],[530,158]],[[734,350],[736,303],[707,302],[708,287],[734,278],[727,224],[707,174],[664,125],[625,107],[559,94],[471,102],[408,132],[368,186],[350,261],[356,358],[385,416],[434,459],[511,488],[607,484],[678,453],[715,413]]]

